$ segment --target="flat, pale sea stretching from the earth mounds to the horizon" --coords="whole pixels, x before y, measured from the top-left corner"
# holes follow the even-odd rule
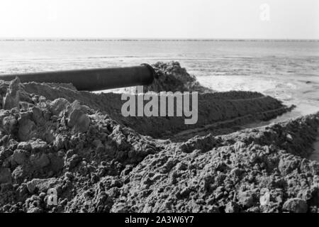
[[[319,111],[318,40],[0,40],[0,74],[158,61],[180,62],[215,91],[262,92],[296,105],[273,121]]]

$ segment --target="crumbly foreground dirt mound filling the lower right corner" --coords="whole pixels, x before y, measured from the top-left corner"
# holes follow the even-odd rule
[[[319,163],[305,158],[318,126],[319,114],[169,144],[122,178],[112,211],[318,212]]]

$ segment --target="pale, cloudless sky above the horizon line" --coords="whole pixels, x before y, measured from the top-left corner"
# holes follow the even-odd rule
[[[319,39],[319,1],[1,0],[0,38]]]

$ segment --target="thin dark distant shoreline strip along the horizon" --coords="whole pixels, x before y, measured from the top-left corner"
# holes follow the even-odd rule
[[[319,42],[316,39],[227,39],[227,38],[0,38],[0,42]]]

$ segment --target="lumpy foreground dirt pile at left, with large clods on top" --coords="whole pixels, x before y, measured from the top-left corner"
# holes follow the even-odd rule
[[[0,211],[62,211],[45,205],[47,189],[63,204],[162,149],[79,101],[28,94],[18,79],[1,92]]]

